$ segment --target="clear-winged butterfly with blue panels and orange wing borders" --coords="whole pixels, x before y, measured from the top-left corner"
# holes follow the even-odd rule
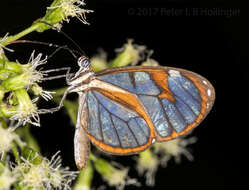
[[[79,94],[74,137],[75,162],[84,169],[90,141],[116,155],[144,151],[155,142],[181,136],[207,116],[215,91],[204,77],[173,67],[129,66],[95,73],[89,59],[67,77],[66,95]]]

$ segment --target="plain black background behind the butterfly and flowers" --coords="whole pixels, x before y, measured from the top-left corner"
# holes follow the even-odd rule
[[[0,4],[0,36],[15,34],[43,16],[50,1],[8,0]],[[102,47],[112,58],[113,50],[126,42],[147,45],[154,50],[153,58],[161,65],[194,71],[206,77],[216,89],[216,102],[209,116],[194,131],[198,142],[191,146],[194,162],[182,159],[160,168],[153,189],[240,189],[249,178],[248,168],[248,4],[247,1],[190,1],[190,0],[88,0],[87,7],[95,13],[87,15],[90,26],[77,19],[64,23],[63,31],[92,56]],[[167,15],[164,10],[192,8],[220,8],[239,11],[231,17],[222,15]],[[150,12],[152,11],[152,12]],[[152,15],[150,15],[150,13]],[[170,14],[170,13],[169,13]],[[32,33],[24,39],[69,45],[61,34],[47,31]],[[18,44],[11,46],[13,60],[26,62],[33,49],[50,54],[53,48]],[[71,66],[77,69],[68,52],[54,56],[52,67]],[[49,84],[47,84],[49,85]],[[64,86],[64,80],[51,87]],[[55,106],[51,104],[52,106]],[[50,105],[50,106],[51,106]],[[35,128],[35,127],[33,127]],[[63,164],[75,168],[73,161],[73,133],[65,110],[42,116],[42,127],[33,129],[44,155],[61,150]],[[93,148],[94,149],[94,148]],[[111,157],[126,166],[134,167],[130,157]],[[130,176],[136,177],[136,170]],[[102,184],[100,177],[94,186]],[[143,181],[143,178],[139,179]],[[245,186],[245,187],[246,187]],[[135,189],[136,187],[126,187]],[[136,188],[137,189],[137,188]],[[146,189],[141,187],[141,189]],[[148,188],[150,189],[150,188]]]

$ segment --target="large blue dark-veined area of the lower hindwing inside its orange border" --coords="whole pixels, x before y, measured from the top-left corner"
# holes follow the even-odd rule
[[[105,144],[134,148],[147,143],[149,128],[136,113],[96,91],[88,92],[89,133]]]

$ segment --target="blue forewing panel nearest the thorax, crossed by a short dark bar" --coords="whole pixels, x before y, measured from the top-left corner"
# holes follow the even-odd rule
[[[98,78],[131,93],[146,95],[160,94],[160,89],[146,72],[114,73],[98,76]]]

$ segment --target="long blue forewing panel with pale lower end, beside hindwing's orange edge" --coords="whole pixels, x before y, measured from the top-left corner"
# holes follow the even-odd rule
[[[160,136],[170,136],[172,133],[172,128],[166,119],[166,115],[164,114],[164,110],[159,99],[157,97],[146,95],[140,95],[139,99],[147,109],[150,118]]]

